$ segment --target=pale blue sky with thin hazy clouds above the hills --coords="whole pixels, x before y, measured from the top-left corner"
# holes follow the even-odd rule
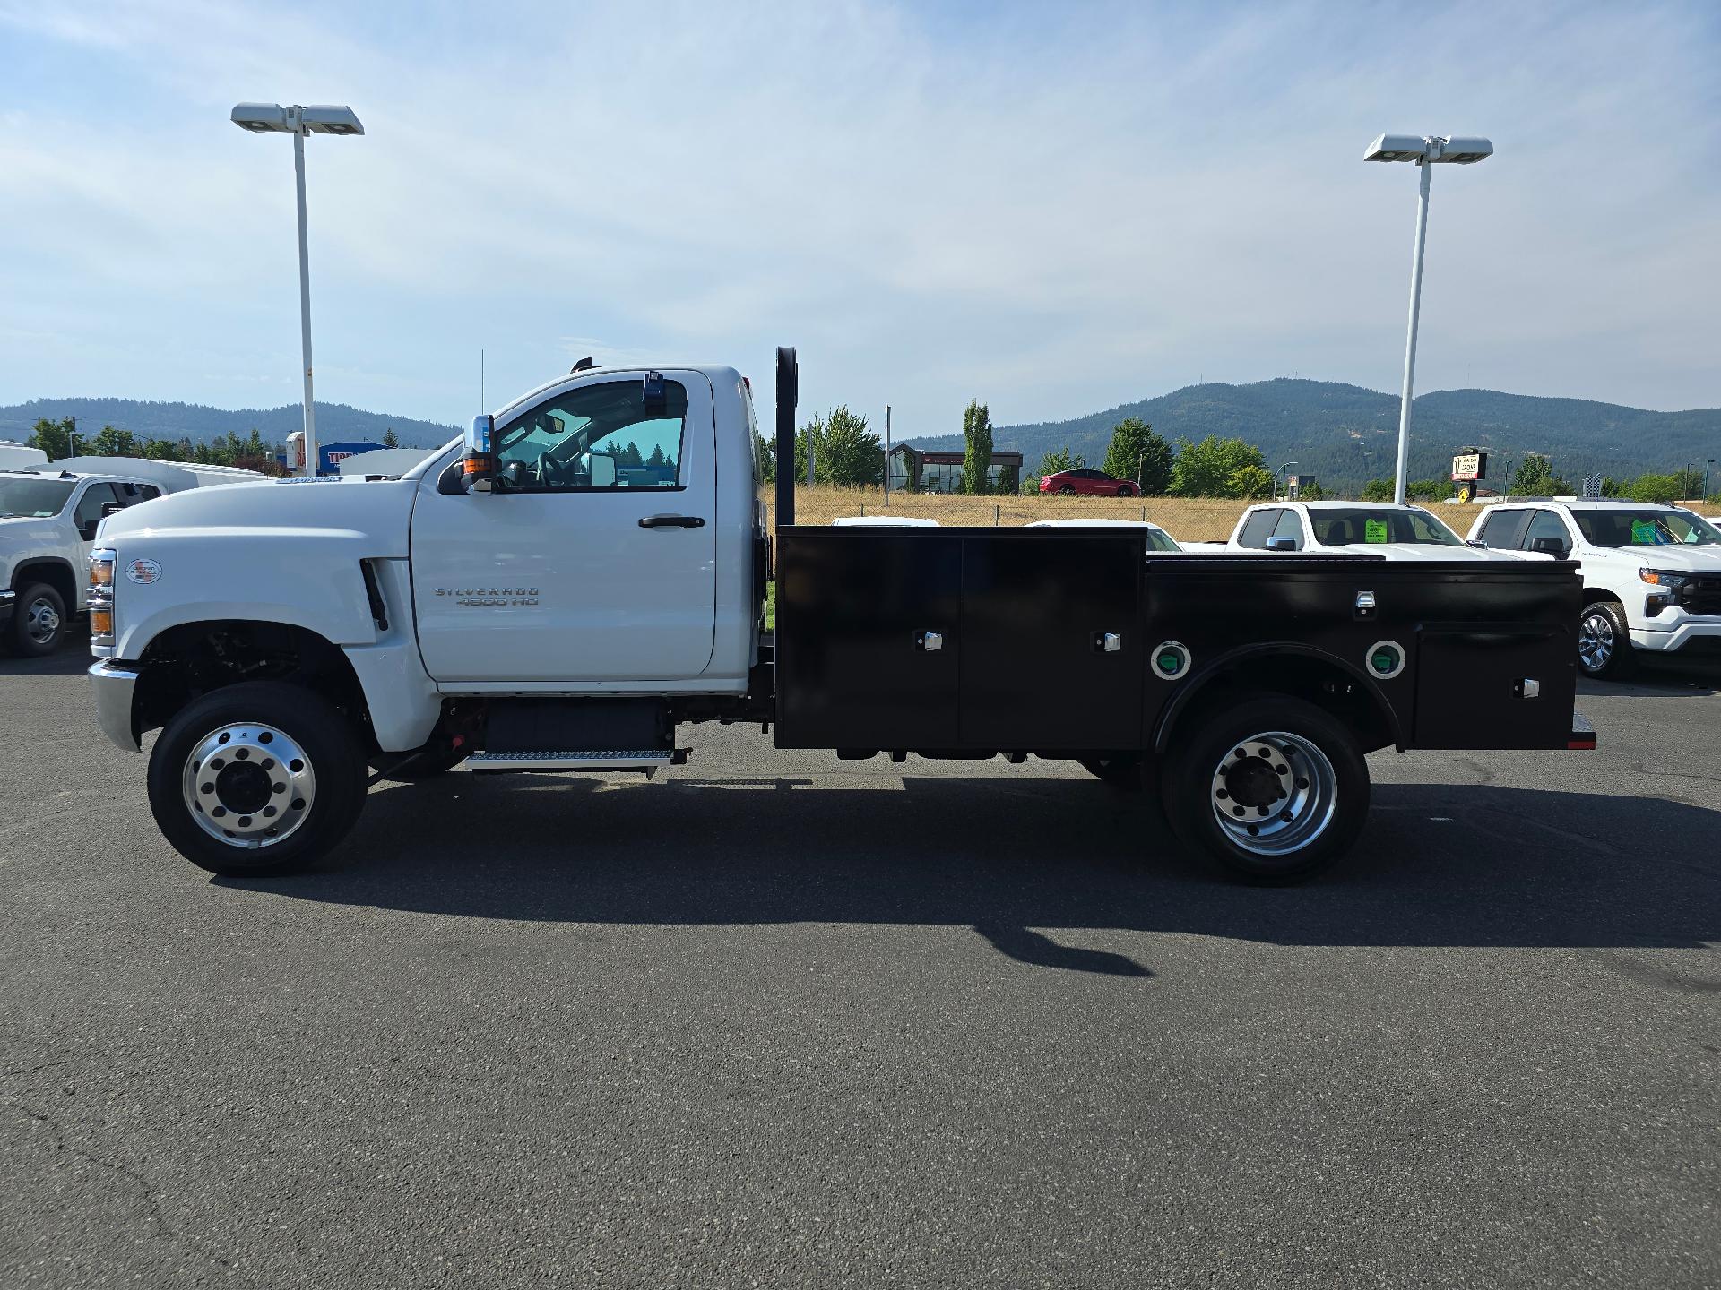
[[[730,363],[898,437],[1280,375],[1721,406],[1721,5],[0,0],[0,404],[460,423]],[[484,401],[480,402],[480,349]]]

